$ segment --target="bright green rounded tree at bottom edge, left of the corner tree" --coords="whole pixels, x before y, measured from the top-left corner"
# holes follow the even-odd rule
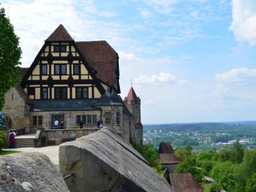
[[[235,169],[235,164],[230,161],[219,162],[213,167],[211,176],[215,182],[219,183],[224,190],[234,191],[235,179],[233,178],[233,170]]]

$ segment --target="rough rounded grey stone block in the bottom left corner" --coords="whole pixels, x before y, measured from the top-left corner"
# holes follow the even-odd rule
[[[40,152],[0,156],[0,191],[69,191],[49,157]]]

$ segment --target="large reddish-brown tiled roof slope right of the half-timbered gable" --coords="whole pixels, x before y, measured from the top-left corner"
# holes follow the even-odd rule
[[[98,72],[96,77],[115,88],[116,78],[119,79],[118,54],[107,41],[77,41],[76,45],[88,65]]]

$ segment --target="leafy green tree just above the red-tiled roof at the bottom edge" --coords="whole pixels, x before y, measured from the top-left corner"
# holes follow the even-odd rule
[[[202,180],[202,172],[201,169],[196,167],[196,158],[193,155],[185,158],[179,166],[175,169],[174,173],[187,173],[190,172],[194,179],[201,181]]]

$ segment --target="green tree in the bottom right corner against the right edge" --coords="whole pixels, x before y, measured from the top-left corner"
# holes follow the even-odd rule
[[[248,180],[252,177],[252,174],[256,172],[256,151],[246,150],[244,151],[243,162],[238,165],[233,176],[236,180],[236,191],[245,191]]]

